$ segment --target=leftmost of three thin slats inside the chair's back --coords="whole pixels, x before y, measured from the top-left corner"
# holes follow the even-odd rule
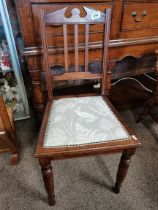
[[[67,42],[67,25],[63,25],[63,35],[64,35],[64,58],[65,58],[65,72],[68,72],[68,42]]]

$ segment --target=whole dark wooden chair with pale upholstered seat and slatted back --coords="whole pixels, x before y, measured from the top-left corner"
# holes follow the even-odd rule
[[[43,180],[50,205],[55,204],[54,182],[51,167],[52,160],[85,157],[91,155],[122,153],[119,164],[115,193],[119,193],[126,176],[131,156],[140,141],[123,123],[121,117],[107,98],[110,89],[110,73],[107,69],[108,40],[110,34],[111,10],[105,13],[92,8],[83,8],[85,17],[80,17],[77,8],[72,9],[72,16],[67,18],[63,8],[53,12],[40,11],[41,36],[43,56],[45,60],[45,75],[48,90],[48,103],[45,110],[35,157],[39,158]],[[79,71],[79,25],[85,26],[85,65],[84,71]],[[104,25],[102,72],[89,72],[89,27],[93,24]],[[47,27],[63,25],[65,72],[54,75],[50,70],[50,48],[48,44]],[[68,25],[74,26],[74,71],[69,71]],[[56,56],[57,54],[54,54]],[[52,94],[52,82],[59,80],[100,79],[101,94],[74,95],[55,98]]]

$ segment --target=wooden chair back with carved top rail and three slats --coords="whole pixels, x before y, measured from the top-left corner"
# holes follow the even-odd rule
[[[62,81],[62,80],[101,80],[101,95],[105,95],[108,83],[110,81],[109,76],[110,73],[107,69],[107,60],[108,60],[108,41],[110,34],[110,22],[111,22],[111,9],[106,9],[105,12],[96,11],[93,8],[83,7],[82,10],[85,11],[85,16],[81,17],[80,10],[78,8],[73,8],[71,10],[70,17],[66,17],[66,12],[68,7],[53,11],[53,12],[45,12],[44,10],[40,11],[40,29],[41,29],[41,38],[42,38],[42,46],[43,46],[43,57],[45,64],[45,75],[46,75],[46,84],[48,90],[48,100],[52,100],[52,82],[53,81]],[[97,24],[103,25],[103,36],[102,36],[102,51],[101,57],[101,71],[99,73],[91,73],[89,71],[89,51],[90,51],[90,40],[89,34],[90,27],[95,26]],[[53,39],[53,35],[49,33],[48,27],[54,26],[58,28],[58,26],[63,27],[63,47],[61,49],[56,49],[56,53],[53,55],[53,61],[55,61],[55,56],[58,56],[58,52],[63,51],[64,54],[64,67],[63,74],[54,75],[51,70],[51,59],[49,58],[51,54],[50,46],[49,46],[49,38]],[[68,26],[74,28],[73,32],[73,40],[74,45],[70,46],[68,43],[69,40],[69,29]],[[84,44],[79,43],[79,26],[84,27]],[[97,41],[97,40],[96,40]],[[84,64],[80,68],[79,60],[80,54],[79,51],[84,51]],[[73,67],[69,65],[70,53],[74,52],[73,59]],[[58,64],[58,63],[57,63]],[[55,65],[55,63],[54,63]]]

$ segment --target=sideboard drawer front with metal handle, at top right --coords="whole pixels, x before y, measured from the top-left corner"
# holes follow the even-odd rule
[[[158,29],[158,3],[124,3],[121,31]]]

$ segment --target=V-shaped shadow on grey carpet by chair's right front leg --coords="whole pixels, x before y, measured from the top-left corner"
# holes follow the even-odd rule
[[[88,181],[90,183],[99,185],[100,187],[105,188],[105,189],[113,192],[113,187],[115,185],[115,182],[114,182],[114,180],[113,180],[113,178],[112,178],[112,176],[110,174],[110,171],[108,170],[108,167],[106,166],[106,164],[103,161],[102,157],[99,157],[99,156],[97,157],[96,156],[95,160],[96,160],[99,168],[102,171],[102,174],[103,174],[102,178],[103,179],[101,180],[101,179],[99,179],[99,177],[93,175],[92,173],[88,173],[87,171],[80,172],[80,177],[82,177],[82,179],[85,180],[85,181]],[[106,178],[106,180],[108,180],[108,182],[110,184],[106,183],[105,178]]]

